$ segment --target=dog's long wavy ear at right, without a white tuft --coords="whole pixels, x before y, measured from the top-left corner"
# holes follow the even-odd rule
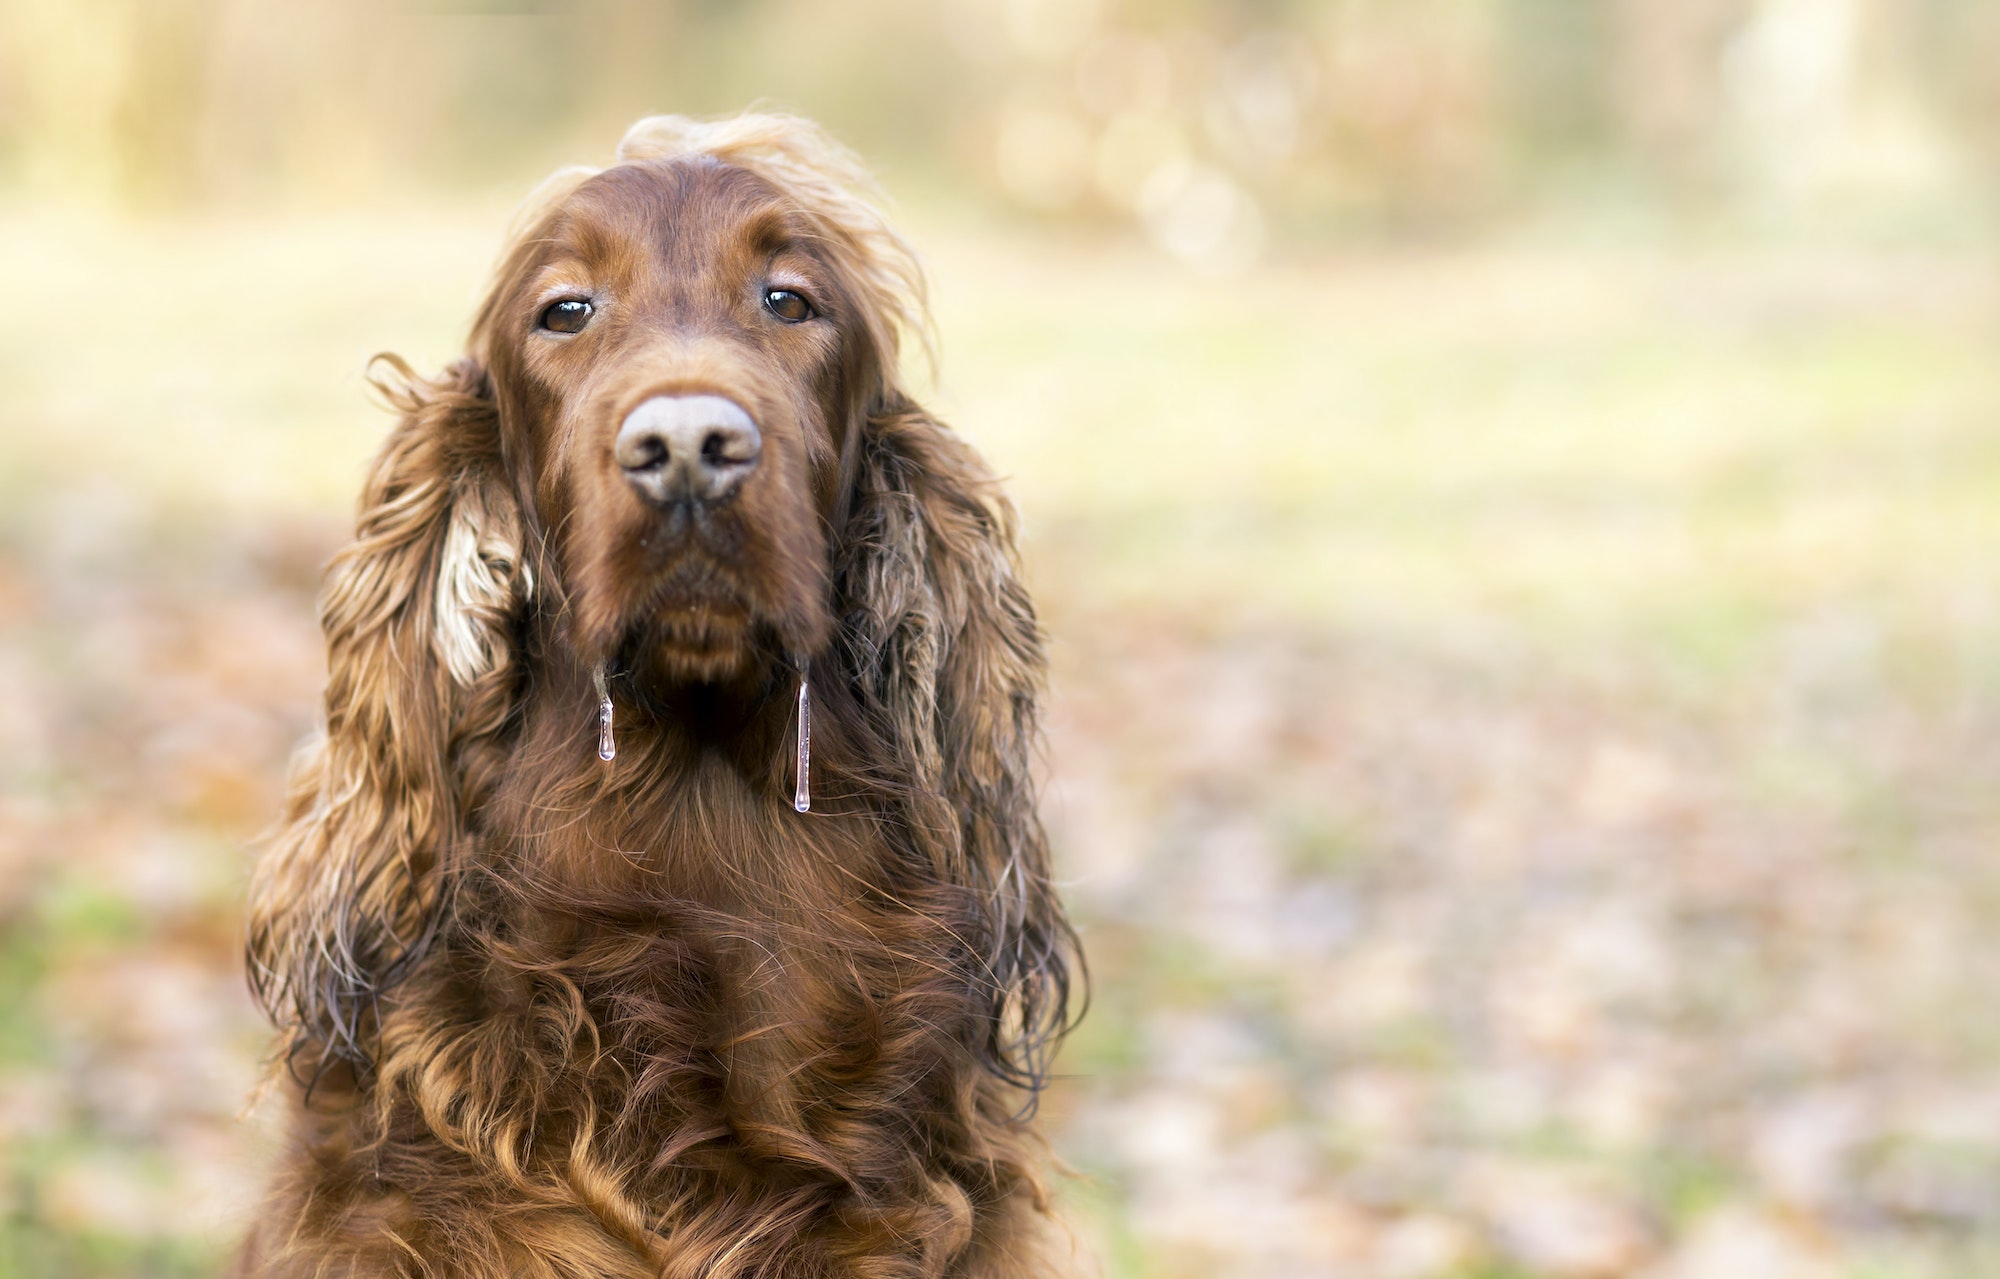
[[[916,783],[914,835],[974,901],[982,1053],[1032,1105],[1078,963],[1030,777],[1042,634],[1012,506],[970,446],[900,398],[862,430],[836,590],[860,691]]]

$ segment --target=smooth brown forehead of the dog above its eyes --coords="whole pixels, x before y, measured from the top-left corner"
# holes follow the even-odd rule
[[[562,248],[594,262],[644,256],[680,264],[770,248],[796,210],[762,176],[712,156],[620,164],[588,178],[562,204]]]

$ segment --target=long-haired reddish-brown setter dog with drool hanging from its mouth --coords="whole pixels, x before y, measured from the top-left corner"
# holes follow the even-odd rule
[[[868,190],[800,120],[644,120],[462,360],[388,360],[250,897],[294,1117],[240,1275],[1054,1265],[1040,638]]]

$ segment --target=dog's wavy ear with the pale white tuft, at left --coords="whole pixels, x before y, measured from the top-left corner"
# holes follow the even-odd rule
[[[374,1001],[422,957],[514,699],[530,582],[486,374],[376,382],[402,420],[320,598],[326,727],[250,885],[248,961],[294,1069],[370,1069]]]

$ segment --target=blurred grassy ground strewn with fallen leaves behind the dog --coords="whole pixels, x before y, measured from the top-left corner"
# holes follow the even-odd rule
[[[458,352],[504,214],[0,222],[4,1279],[246,1209],[360,370]],[[1056,643],[1110,1273],[1984,1273],[1988,248],[914,230]]]

